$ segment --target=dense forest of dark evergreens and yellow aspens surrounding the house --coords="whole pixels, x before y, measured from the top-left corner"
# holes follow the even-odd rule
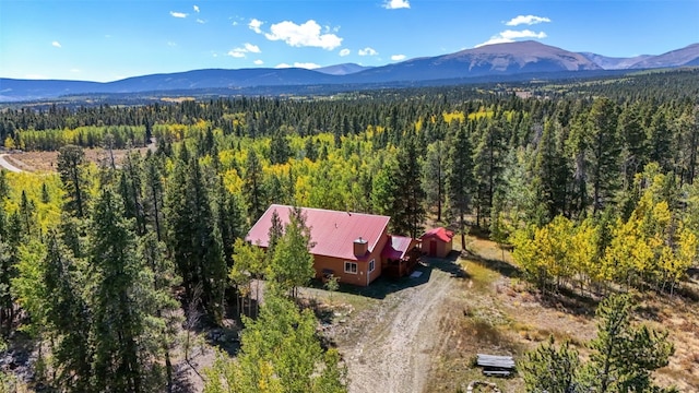
[[[8,353],[34,354],[5,386],[171,391],[183,331],[235,319],[239,360],[222,354],[208,392],[346,390],[287,296],[312,276],[303,216],[266,255],[239,240],[271,203],[384,214],[413,237],[436,223],[463,249],[478,229],[545,294],[696,301],[697,72],[5,108],[7,148],[59,151],[56,172],[0,175],[0,330]],[[95,146],[129,153],[96,165]],[[263,276],[264,305],[241,307]]]

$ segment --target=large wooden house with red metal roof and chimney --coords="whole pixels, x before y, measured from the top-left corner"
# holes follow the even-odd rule
[[[268,207],[246,240],[266,248],[273,213],[285,226],[292,209],[279,204]],[[367,286],[381,274],[410,274],[417,263],[418,241],[389,235],[389,216],[310,207],[301,207],[301,214],[310,229],[317,278],[332,274],[340,283]]]

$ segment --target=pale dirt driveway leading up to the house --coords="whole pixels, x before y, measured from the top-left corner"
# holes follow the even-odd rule
[[[420,266],[414,286],[387,295],[337,336],[347,364],[350,392],[422,392],[446,338],[439,329],[442,301],[453,288],[453,263]],[[408,283],[410,285],[410,283]]]

